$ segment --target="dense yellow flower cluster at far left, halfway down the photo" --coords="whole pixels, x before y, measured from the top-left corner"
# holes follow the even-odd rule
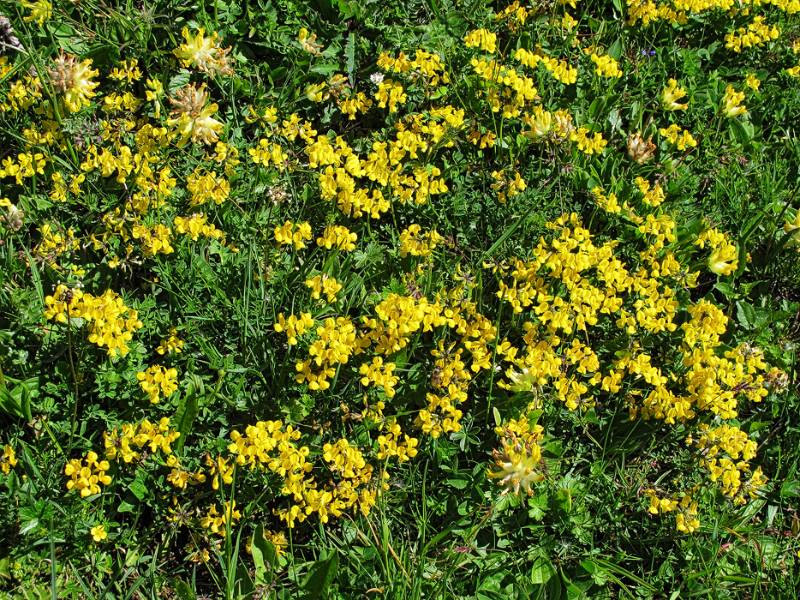
[[[93,296],[63,284],[45,297],[44,316],[57,323],[83,319],[89,325],[89,341],[107,348],[112,357],[128,354],[133,332],[142,327],[138,313],[125,306],[115,292],[106,290],[102,296]]]

